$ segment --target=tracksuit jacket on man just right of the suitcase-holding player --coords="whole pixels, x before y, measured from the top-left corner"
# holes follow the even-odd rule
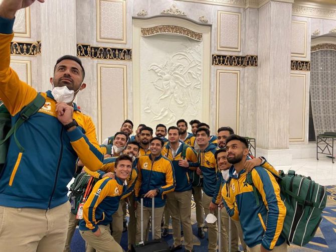
[[[175,179],[176,179],[176,187],[175,187],[175,192],[184,192],[188,190],[192,190],[192,183],[189,179],[189,168],[179,166],[179,160],[182,160],[182,151],[184,148],[184,143],[181,143],[181,146],[178,148],[176,151],[176,154],[173,155],[173,150],[168,143],[166,146],[163,147],[162,149],[162,156],[166,157],[170,161],[172,161],[173,166],[174,166],[174,171],[175,171]],[[189,162],[197,162],[197,156],[195,151],[188,146],[186,149],[186,157]],[[191,167],[190,169],[196,169],[196,167]]]

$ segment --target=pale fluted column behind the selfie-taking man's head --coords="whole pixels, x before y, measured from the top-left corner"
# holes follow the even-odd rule
[[[49,78],[63,55],[76,55],[76,2],[46,1],[41,4],[42,83],[38,89],[51,89]]]

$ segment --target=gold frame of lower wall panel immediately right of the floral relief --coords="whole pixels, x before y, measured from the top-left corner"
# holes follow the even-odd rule
[[[220,74],[221,73],[233,73],[237,75],[237,121],[236,121],[236,134],[239,135],[239,110],[240,110],[240,71],[239,70],[220,70],[217,69],[216,80],[216,129],[219,128],[219,91],[220,91]]]

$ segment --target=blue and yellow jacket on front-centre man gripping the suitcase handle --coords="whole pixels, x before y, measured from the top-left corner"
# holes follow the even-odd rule
[[[165,194],[173,192],[175,189],[175,172],[172,162],[162,155],[151,160],[151,155],[142,156],[138,161],[138,179],[135,183],[135,200],[139,200],[141,195],[148,191],[158,189],[155,196],[154,207],[162,207],[165,204]],[[150,198],[143,199],[143,206],[152,207]]]

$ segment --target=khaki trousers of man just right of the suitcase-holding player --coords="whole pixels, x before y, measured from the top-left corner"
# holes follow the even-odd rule
[[[192,190],[185,192],[171,192],[167,194],[167,203],[172,215],[174,245],[179,246],[181,241],[181,224],[185,239],[185,249],[193,249],[193,229],[191,221]]]

